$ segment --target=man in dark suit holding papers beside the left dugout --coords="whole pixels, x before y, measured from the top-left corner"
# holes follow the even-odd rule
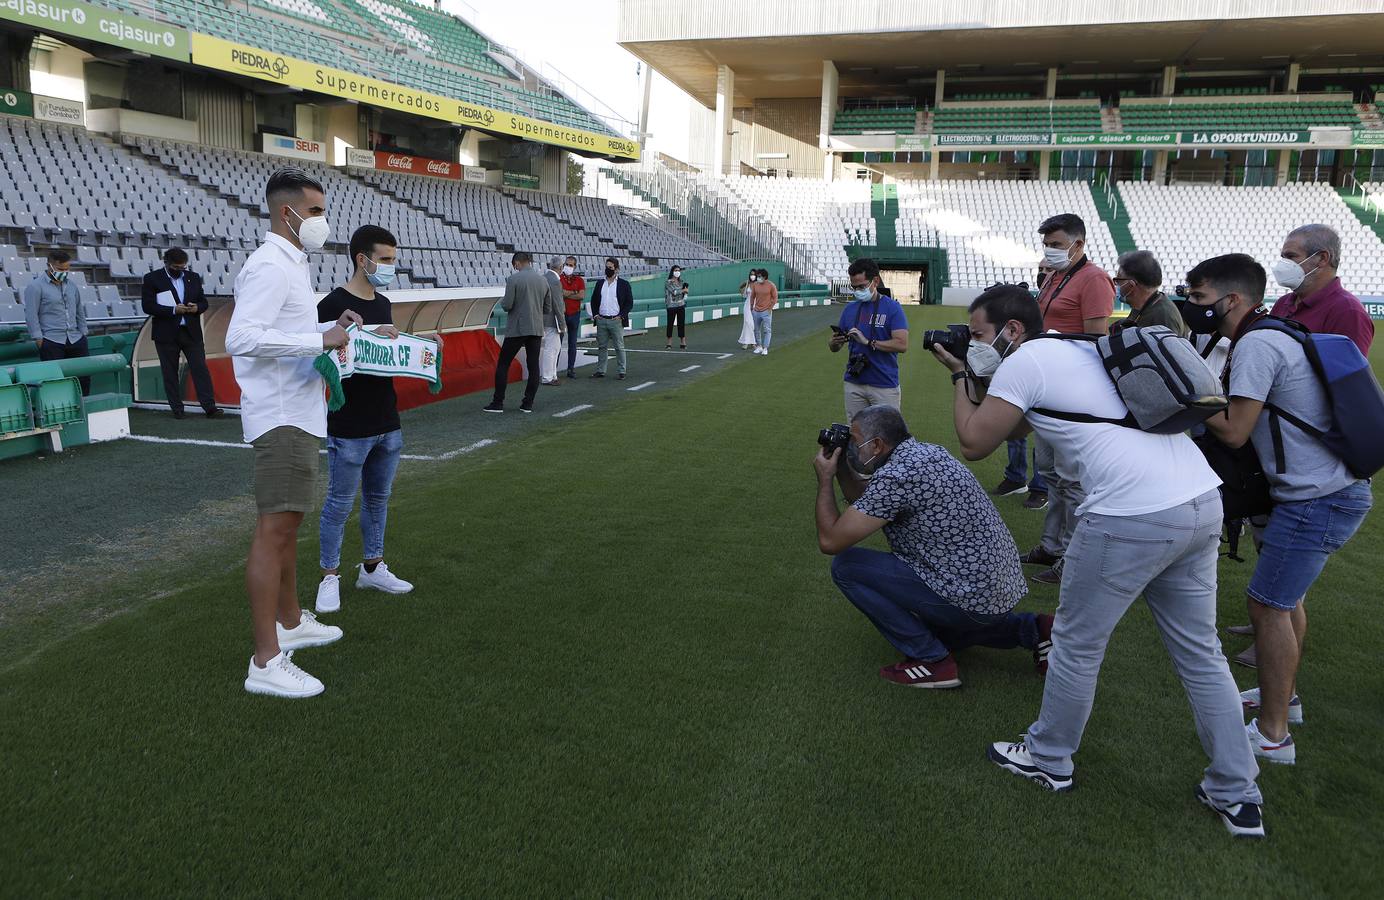
[[[202,276],[188,271],[187,251],[170,246],[163,253],[163,267],[144,276],[141,298],[144,313],[154,318],[154,346],[163,370],[163,393],[173,407],[173,418],[183,418],[183,392],[177,382],[179,356],[187,357],[187,370],[197,388],[197,399],[208,417],[224,415],[212,392],[212,374],[206,371],[202,345],[202,313],[206,294]]]

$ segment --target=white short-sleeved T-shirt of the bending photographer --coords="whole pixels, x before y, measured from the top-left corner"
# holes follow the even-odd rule
[[[1186,435],[1068,422],[1032,411],[1037,406],[1100,418],[1129,414],[1093,343],[1026,341],[999,364],[988,396],[1023,410],[1034,432],[1052,444],[1062,476],[1081,482],[1086,500],[1077,515],[1160,512],[1221,485]]]

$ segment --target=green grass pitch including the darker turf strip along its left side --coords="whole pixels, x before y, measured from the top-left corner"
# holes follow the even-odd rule
[[[904,357],[905,417],[954,451],[919,330],[958,314],[911,310]],[[406,414],[408,451],[497,443],[401,467],[386,557],[418,588],[346,579],[345,640],[296,655],[327,683],[311,701],[241,688],[248,453],[0,467],[0,894],[1378,896],[1381,514],[1311,594],[1306,724],[1295,767],[1264,766],[1266,842],[1194,800],[1204,757],[1142,605],[1077,789],[1049,795],[984,756],[1037,714],[1027,652],[959,654],[956,691],[886,684],[895,654],[828,577],[810,458],[843,415],[830,317],[779,313],[767,359],[637,353],[628,382],[544,390],[540,413],[594,407],[567,418],[483,421],[476,396]],[[736,328],[695,327],[693,349]],[[644,372],[659,384],[623,390]],[[974,464],[985,486],[1001,456]],[[998,504],[1027,547],[1020,500]],[[1221,566],[1222,624],[1244,619],[1246,550]],[[304,605],[316,552],[310,516]],[[1034,586],[1021,608],[1056,602]]]

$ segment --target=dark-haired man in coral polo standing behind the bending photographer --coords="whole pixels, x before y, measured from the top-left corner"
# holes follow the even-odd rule
[[[1044,264],[1052,274],[1038,291],[1044,331],[1063,334],[1109,334],[1116,309],[1116,285],[1100,266],[1086,256],[1086,223],[1081,216],[1062,213],[1038,226]],[[1020,557],[1026,565],[1048,566],[1032,576],[1042,584],[1062,583],[1062,558],[1077,528],[1077,507],[1086,498],[1081,483],[1070,475],[1070,462],[1059,467],[1052,444],[1034,435],[1034,465],[1048,485],[1048,514],[1038,546]],[[1060,468],[1060,471],[1059,471]]]

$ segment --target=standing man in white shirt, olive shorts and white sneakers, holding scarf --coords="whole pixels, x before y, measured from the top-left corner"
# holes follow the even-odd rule
[[[307,252],[331,234],[322,186],[302,169],[270,176],[264,197],[271,216],[264,242],[235,277],[235,310],[226,331],[241,425],[255,447],[259,521],[245,561],[245,587],[255,624],[255,656],[245,690],[274,696],[314,696],[322,683],[288,652],[340,638],[298,605],[298,526],[313,508],[318,449],[327,436],[327,402],[313,360],[346,345],[346,327],[361,324],[347,310],[317,323]]]

